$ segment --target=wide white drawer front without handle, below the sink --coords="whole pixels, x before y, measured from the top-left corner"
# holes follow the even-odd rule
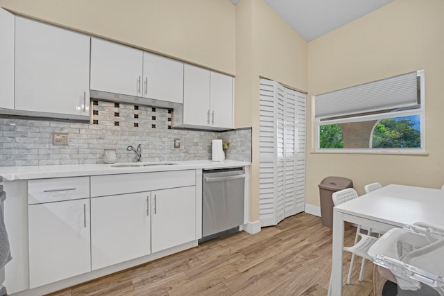
[[[91,176],[91,196],[143,192],[195,184],[195,170],[99,175]]]

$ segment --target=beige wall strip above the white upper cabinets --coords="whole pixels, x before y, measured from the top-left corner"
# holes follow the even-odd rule
[[[235,74],[228,0],[0,0],[0,7]]]

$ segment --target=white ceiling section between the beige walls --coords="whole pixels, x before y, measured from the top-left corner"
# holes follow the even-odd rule
[[[230,0],[234,5],[239,0]],[[394,0],[264,0],[307,41]]]

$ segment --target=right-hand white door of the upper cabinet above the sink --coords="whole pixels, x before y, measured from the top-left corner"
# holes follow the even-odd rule
[[[143,96],[183,103],[183,62],[144,52]]]

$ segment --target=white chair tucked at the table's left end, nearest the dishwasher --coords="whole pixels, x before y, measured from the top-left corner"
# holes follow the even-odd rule
[[[333,204],[335,206],[342,204],[343,202],[348,202],[358,198],[358,193],[355,189],[348,188],[341,191],[336,191],[333,193]],[[361,239],[359,239],[361,238]],[[359,240],[359,241],[358,241]],[[361,272],[359,272],[359,281],[362,281],[364,277],[364,266],[366,264],[366,259],[371,260],[372,258],[368,256],[368,249],[377,241],[374,236],[368,236],[366,234],[361,234],[361,225],[357,225],[355,245],[352,247],[344,247],[344,251],[352,253],[352,260],[350,261],[350,270],[348,270],[347,284],[350,285],[350,279],[352,277],[353,263],[355,263],[355,255],[362,257]]]

